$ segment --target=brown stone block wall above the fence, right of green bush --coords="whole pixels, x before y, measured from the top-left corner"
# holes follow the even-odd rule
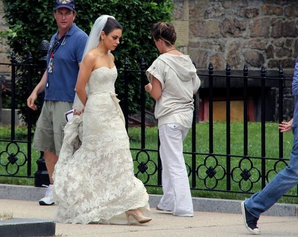
[[[174,0],[177,46],[198,69],[292,70],[298,54],[296,0]]]

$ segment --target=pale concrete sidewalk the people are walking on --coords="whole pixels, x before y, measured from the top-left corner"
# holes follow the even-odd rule
[[[56,206],[40,206],[36,201],[0,199],[0,212],[13,212],[14,217],[53,220],[55,209]],[[152,208],[152,218],[146,224],[130,226],[56,223],[56,236],[250,236],[241,214],[196,211],[194,217],[177,217]],[[263,236],[298,236],[298,218],[264,215],[259,228]]]

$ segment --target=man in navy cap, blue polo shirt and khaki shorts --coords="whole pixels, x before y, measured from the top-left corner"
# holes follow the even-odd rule
[[[74,0],[56,0],[54,18],[58,31],[51,38],[47,70],[27,99],[27,105],[36,110],[37,96],[45,91],[33,141],[33,147],[44,152],[50,178],[50,185],[45,197],[39,201],[40,205],[55,204],[52,175],[63,141],[64,113],[72,108],[79,66],[88,39],[73,23],[76,18]]]

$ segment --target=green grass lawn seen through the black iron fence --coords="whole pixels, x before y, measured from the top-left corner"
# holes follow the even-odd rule
[[[248,156],[249,157],[260,157],[261,156],[261,125],[260,123],[249,123],[248,124]],[[196,134],[196,152],[197,153],[209,153],[209,124],[208,123],[199,123],[196,125],[197,134]],[[265,127],[266,131],[266,149],[265,156],[268,158],[278,158],[278,129],[276,123],[266,123]],[[16,139],[26,140],[26,128],[19,127],[16,131]],[[129,128],[128,135],[130,138],[130,147],[139,149],[140,145],[140,128]],[[9,139],[10,130],[9,128],[1,128],[0,127],[0,136],[2,139]],[[225,154],[226,153],[226,125],[224,122],[216,122],[214,123],[214,154]],[[191,152],[191,131],[184,141],[184,152]],[[1,151],[4,151],[7,146],[7,142],[1,142]],[[157,128],[147,127],[145,130],[145,148],[150,150],[157,150],[158,148],[158,140],[157,140]],[[292,135],[291,133],[286,133],[283,136],[283,157],[288,159],[289,153],[291,151],[292,145]],[[19,144],[21,150],[26,154],[26,144]],[[10,153],[16,152],[16,147],[10,146]],[[136,159],[137,153],[139,151],[131,151],[133,159]],[[148,169],[146,173],[141,174],[138,173],[137,177],[145,182],[148,185],[157,185],[157,172],[155,171],[155,164],[157,164],[157,152],[149,151],[147,154],[150,156],[150,160],[148,161],[147,155],[144,152],[139,153],[138,155],[138,163],[135,161],[135,172],[138,171],[138,164],[141,162],[146,163]],[[241,180],[240,173],[247,169],[251,174],[250,180],[253,181],[253,186],[250,192],[257,192],[261,189],[261,180],[259,178],[259,174],[256,169],[251,169],[251,164],[253,167],[256,167],[260,170],[261,160],[260,159],[251,159],[251,163],[248,159],[242,159],[239,157],[233,157],[233,155],[243,155],[243,123],[231,123],[231,171],[233,171],[233,179],[231,179],[231,191],[239,192],[241,191],[239,184],[241,184],[241,188],[244,191],[249,190],[250,182]],[[32,176],[34,176],[34,172],[37,170],[36,160],[39,158],[40,152],[32,150]],[[186,163],[191,165],[192,155],[185,154]],[[3,162],[3,158],[0,157],[1,162]],[[216,165],[216,160],[212,157],[206,158],[206,155],[198,154],[196,156],[196,167],[203,165],[205,162],[205,166],[201,166],[198,170],[199,177],[204,179],[207,177],[206,169],[212,166],[215,171],[215,177],[217,177],[218,183],[216,183],[215,178],[207,178],[206,179],[206,188],[204,184],[204,180],[199,179],[196,176],[196,188],[203,190],[192,190],[192,195],[197,197],[212,197],[212,198],[227,198],[227,199],[243,199],[244,197],[250,196],[248,193],[227,193],[220,191],[210,191],[212,188],[217,190],[226,190],[226,176],[224,175],[224,170],[227,167],[227,159],[225,156],[216,156],[218,164]],[[21,159],[20,159],[21,160]],[[154,162],[152,162],[154,161]],[[266,160],[266,172],[273,168],[274,164],[277,160]],[[240,168],[241,169],[240,169]],[[284,168],[283,162],[277,162],[276,171]],[[11,166],[8,168],[11,172],[14,171],[15,166]],[[147,180],[148,174],[150,174],[150,179]],[[0,174],[7,174],[5,167],[0,167]],[[27,165],[20,168],[18,175],[27,175]],[[274,177],[275,171],[270,172],[269,180]],[[223,177],[223,178],[222,178]],[[222,178],[222,179],[221,179]],[[191,180],[191,179],[190,179]],[[258,180],[258,181],[257,181]],[[8,184],[24,184],[24,185],[34,185],[34,179],[29,178],[15,178],[15,177],[0,177],[0,183],[8,183]],[[191,184],[191,182],[190,182]],[[160,187],[151,187],[146,186],[149,193],[161,194],[162,189]],[[208,191],[207,191],[208,190]],[[296,189],[293,188],[287,194],[296,195]],[[282,197],[280,199],[281,202],[287,203],[298,203],[298,198],[293,197]]]

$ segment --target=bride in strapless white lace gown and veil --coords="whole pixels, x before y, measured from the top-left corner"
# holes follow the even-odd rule
[[[110,50],[117,47],[121,35],[121,25],[107,15],[96,20],[89,35],[76,84],[76,115],[64,129],[53,175],[58,222],[130,224],[151,220],[146,217],[150,212],[148,194],[133,174],[114,88],[117,69]]]

